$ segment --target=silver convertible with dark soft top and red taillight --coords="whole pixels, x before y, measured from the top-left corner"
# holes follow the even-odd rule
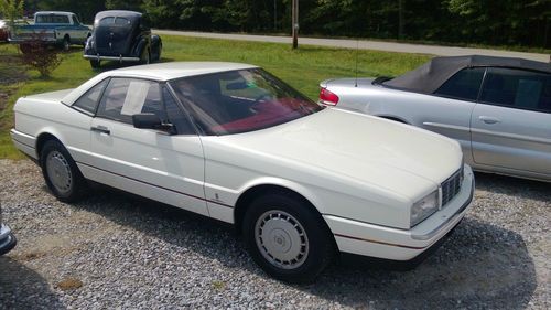
[[[551,181],[551,64],[435,57],[396,78],[320,84],[320,103],[456,139],[475,170]]]

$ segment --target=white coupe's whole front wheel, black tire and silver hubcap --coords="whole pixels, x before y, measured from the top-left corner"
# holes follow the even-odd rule
[[[242,234],[255,261],[288,282],[314,281],[335,252],[321,215],[287,193],[256,199],[245,214]]]

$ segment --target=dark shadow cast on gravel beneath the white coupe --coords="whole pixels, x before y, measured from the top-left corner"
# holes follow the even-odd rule
[[[102,186],[72,206],[100,214],[180,250],[268,278],[249,259],[234,231],[218,222]],[[528,306],[536,287],[533,261],[522,237],[469,217],[414,270],[337,264],[314,285],[295,286],[343,306],[382,309],[520,309]]]

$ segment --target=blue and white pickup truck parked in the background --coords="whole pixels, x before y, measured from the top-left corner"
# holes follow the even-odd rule
[[[71,44],[84,45],[90,36],[90,29],[78,21],[75,13],[61,11],[41,11],[34,14],[33,24],[20,24],[11,31],[10,43],[24,44],[40,40],[44,44],[54,44],[68,51]]]

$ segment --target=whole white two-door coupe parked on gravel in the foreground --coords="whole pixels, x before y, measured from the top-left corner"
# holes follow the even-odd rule
[[[93,180],[233,223],[291,282],[313,281],[338,252],[422,257],[473,197],[457,142],[323,108],[252,65],[116,70],[14,111],[13,142],[58,200]]]

